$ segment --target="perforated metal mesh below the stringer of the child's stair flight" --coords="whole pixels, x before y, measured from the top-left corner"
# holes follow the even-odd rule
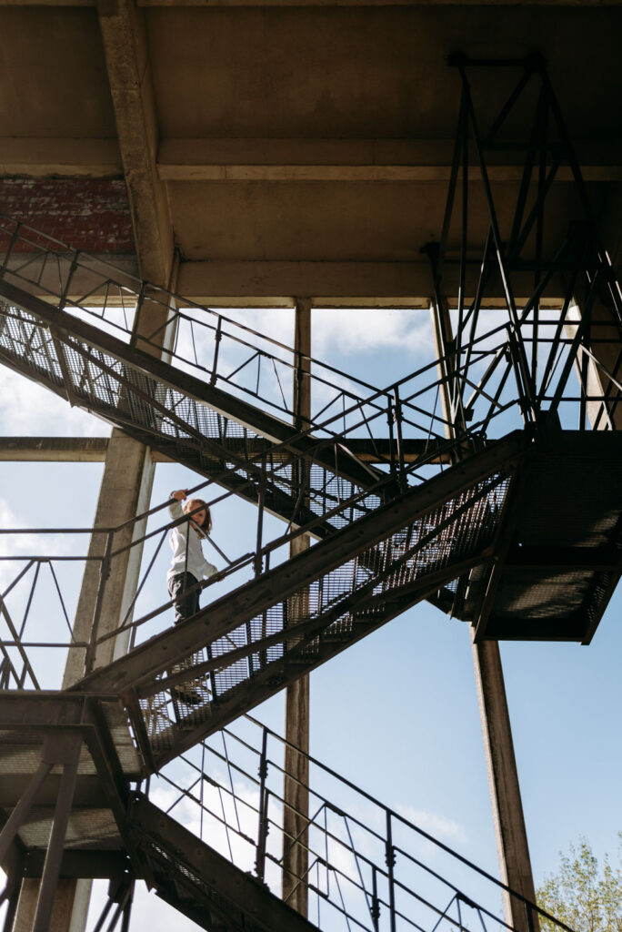
[[[163,682],[161,692],[141,699],[156,755],[175,747],[180,730],[209,725],[221,704],[242,692],[250,695],[255,683],[278,684],[285,665],[312,666],[323,651],[341,650],[363,629],[381,624],[394,613],[386,603],[401,590],[414,583],[425,586],[426,577],[432,575],[435,583],[440,580],[439,587],[451,582],[456,564],[477,557],[493,542],[511,481],[509,473],[495,471],[186,657],[170,671],[188,669],[188,678],[177,686],[174,698]],[[297,625],[314,622],[318,625],[310,632],[297,630]],[[264,647],[265,638],[279,634],[283,637]],[[231,651],[253,644],[256,651],[227,663]],[[192,675],[194,666],[220,657],[223,663],[214,672]],[[184,696],[192,702],[186,703]],[[170,726],[170,720],[177,720],[177,725]]]

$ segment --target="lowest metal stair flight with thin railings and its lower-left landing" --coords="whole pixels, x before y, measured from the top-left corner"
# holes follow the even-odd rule
[[[309,809],[292,810],[300,825],[292,833],[283,792],[292,776],[286,743],[257,720],[243,718],[215,733],[146,783],[114,700],[10,692],[0,703],[0,727],[4,760],[12,764],[11,778],[0,778],[0,810],[11,814],[0,820],[7,891],[13,898],[24,873],[40,877],[47,894],[59,875],[109,878],[97,929],[108,919],[113,928],[121,916],[128,927],[133,887],[142,879],[209,932],[434,932],[439,925],[451,932],[522,932],[499,918],[502,894],[518,900],[525,927],[540,919],[571,932],[289,746],[306,758],[311,774],[304,781]],[[166,812],[156,803],[164,789]],[[56,861],[48,854],[52,830]],[[289,857],[294,849],[301,855],[297,867]],[[286,872],[295,888],[304,888],[308,919],[279,898]]]

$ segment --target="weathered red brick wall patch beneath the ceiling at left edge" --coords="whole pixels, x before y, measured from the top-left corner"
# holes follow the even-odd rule
[[[0,178],[0,213],[88,253],[134,252],[125,181]],[[7,248],[0,235],[0,252]],[[27,252],[20,244],[20,252]]]

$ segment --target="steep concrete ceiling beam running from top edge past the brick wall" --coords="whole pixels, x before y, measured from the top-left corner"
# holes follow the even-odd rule
[[[98,10],[139,267],[143,279],[166,287],[172,226],[156,171],[156,105],[143,16],[131,0],[101,0]]]

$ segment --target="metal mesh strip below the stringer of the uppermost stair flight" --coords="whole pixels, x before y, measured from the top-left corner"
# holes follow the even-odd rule
[[[260,434],[83,340],[61,332],[52,336],[43,322],[23,308],[0,304],[0,353],[5,363],[66,394],[73,404],[129,432],[136,429],[142,436],[149,434],[154,445],[169,448],[172,444],[180,459],[191,459],[201,472],[218,473],[225,487],[239,489],[248,483],[248,496],[257,499],[263,465],[257,457],[258,445],[264,443]],[[175,370],[170,374],[174,382]],[[210,446],[210,442],[226,446],[232,441],[236,456],[230,459],[223,459]],[[380,504],[374,494],[344,504],[357,497],[361,487],[295,454],[288,461],[287,455],[276,456],[268,447],[264,462],[265,503],[288,519],[297,514],[301,504],[308,518],[323,517],[337,509],[326,519],[329,529],[337,529]],[[302,462],[304,496],[299,478]]]

